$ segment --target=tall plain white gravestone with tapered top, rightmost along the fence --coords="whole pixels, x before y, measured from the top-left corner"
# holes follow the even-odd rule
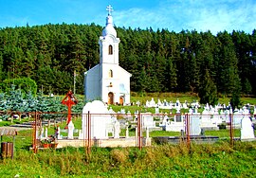
[[[241,121],[241,139],[251,139],[254,137],[252,122],[249,116],[245,116]]]

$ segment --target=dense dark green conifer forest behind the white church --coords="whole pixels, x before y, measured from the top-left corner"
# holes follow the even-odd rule
[[[119,64],[133,75],[132,91],[198,93],[210,83],[219,94],[256,94],[255,29],[216,36],[196,30],[116,29]],[[73,89],[75,76],[76,93],[83,94],[83,73],[100,62],[101,31],[95,24],[1,28],[0,80],[28,77],[45,94],[65,94]]]

